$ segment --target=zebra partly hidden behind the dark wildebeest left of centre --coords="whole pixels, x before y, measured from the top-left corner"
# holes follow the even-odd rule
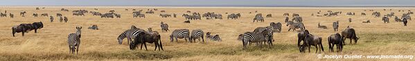
[[[118,44],[123,44],[124,38],[127,38],[127,44],[130,44],[132,42],[132,39],[134,39],[139,33],[146,33],[145,30],[142,29],[128,29],[125,30],[123,33],[118,35],[117,40]]]

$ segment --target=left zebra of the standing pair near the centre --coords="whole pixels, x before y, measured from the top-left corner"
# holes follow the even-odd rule
[[[177,30],[173,30],[173,32],[170,35],[170,42],[173,42],[174,41],[173,38],[176,39],[176,42],[178,42],[177,38],[179,38],[179,39],[183,39],[184,38],[184,40],[186,40],[186,42],[187,42],[187,40],[189,40],[190,42],[192,42],[191,41],[191,38],[189,36],[189,30],[188,29],[177,29]]]

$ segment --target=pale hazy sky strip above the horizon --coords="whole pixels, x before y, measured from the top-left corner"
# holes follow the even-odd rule
[[[0,6],[415,6],[415,0],[0,0]]]

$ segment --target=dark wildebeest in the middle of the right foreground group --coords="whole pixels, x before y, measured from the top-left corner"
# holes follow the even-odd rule
[[[342,35],[339,33],[333,34],[328,36],[328,49],[330,49],[331,52],[334,52],[333,47],[336,45],[337,52],[343,51],[343,38]]]

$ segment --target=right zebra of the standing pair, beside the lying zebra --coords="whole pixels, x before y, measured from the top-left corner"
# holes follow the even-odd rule
[[[192,30],[191,41],[195,42],[196,39],[200,41],[200,38],[202,38],[202,42],[204,42],[203,36],[203,30]]]

